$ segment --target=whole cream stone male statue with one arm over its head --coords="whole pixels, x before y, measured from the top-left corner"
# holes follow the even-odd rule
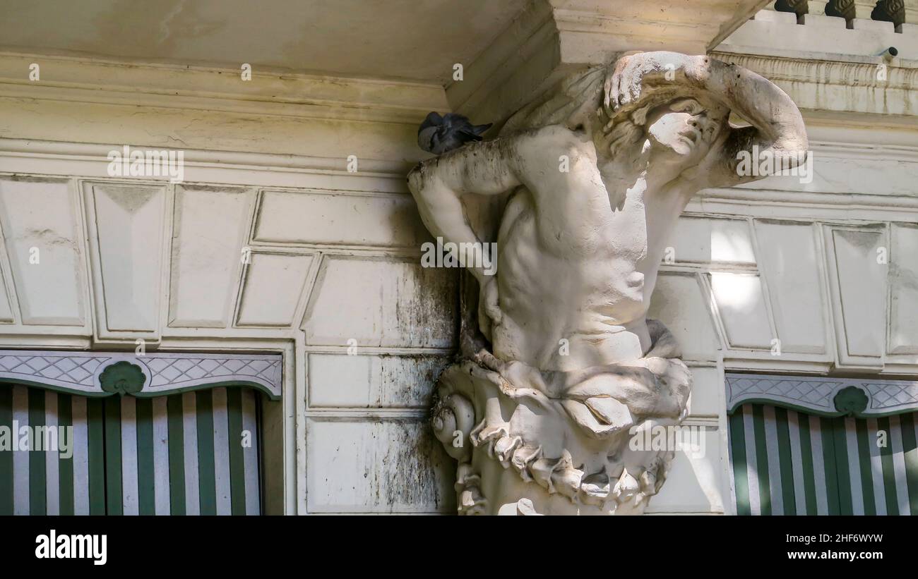
[[[750,126],[731,126],[731,111]],[[707,56],[645,52],[578,73],[498,138],[410,172],[431,234],[498,248],[496,275],[469,268],[491,352],[466,348],[434,408],[460,463],[460,512],[643,511],[673,453],[628,441],[681,421],[691,384],[672,336],[646,319],[657,269],[694,193],[760,178],[736,170],[753,146],[803,161],[786,93]],[[495,207],[493,230],[476,223]]]

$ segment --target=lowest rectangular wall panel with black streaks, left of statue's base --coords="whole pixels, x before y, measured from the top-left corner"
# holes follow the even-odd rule
[[[308,510],[455,512],[453,462],[426,421],[309,418]]]

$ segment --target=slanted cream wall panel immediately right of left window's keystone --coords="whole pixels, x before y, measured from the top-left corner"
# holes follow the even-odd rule
[[[229,324],[253,200],[252,190],[175,188],[170,327]]]

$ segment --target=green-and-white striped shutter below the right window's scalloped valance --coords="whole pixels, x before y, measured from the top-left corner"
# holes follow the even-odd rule
[[[914,412],[824,417],[746,403],[729,434],[740,515],[918,514]]]

